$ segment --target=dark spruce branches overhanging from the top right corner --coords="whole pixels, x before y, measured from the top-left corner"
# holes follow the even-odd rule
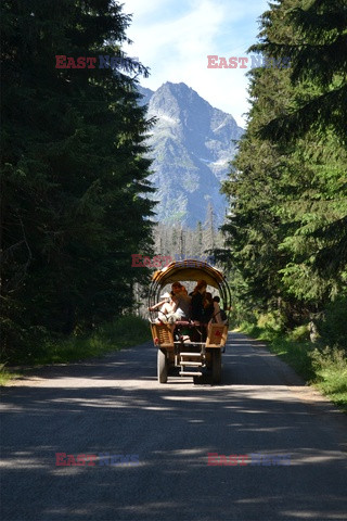
[[[261,135],[285,142],[332,126],[346,144],[347,4],[345,0],[281,0],[264,13],[262,42],[252,50],[290,56],[291,81],[305,90]],[[313,87],[313,88],[312,88]]]

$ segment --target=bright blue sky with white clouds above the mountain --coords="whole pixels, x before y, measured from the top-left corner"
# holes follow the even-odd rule
[[[183,81],[245,126],[249,68],[207,68],[207,55],[245,56],[257,41],[267,0],[121,0],[132,13],[124,50],[151,68],[143,87]]]

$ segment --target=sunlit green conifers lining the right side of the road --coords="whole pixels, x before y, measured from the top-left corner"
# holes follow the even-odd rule
[[[288,329],[321,317],[347,282],[346,10],[282,0],[262,15],[252,50],[292,66],[252,71],[249,124],[223,188],[236,307],[277,309]]]

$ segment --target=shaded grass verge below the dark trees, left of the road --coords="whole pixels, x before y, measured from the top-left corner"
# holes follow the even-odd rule
[[[68,364],[141,344],[151,339],[147,320],[128,315],[114,322],[105,323],[89,335],[73,335],[68,339],[46,340],[36,347],[29,347],[25,354],[12,358],[7,364],[39,366],[48,364]],[[0,385],[5,385],[12,378],[18,377],[7,364],[0,365]]]

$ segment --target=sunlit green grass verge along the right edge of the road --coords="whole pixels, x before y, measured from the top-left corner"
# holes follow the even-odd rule
[[[268,348],[288,364],[309,384],[314,385],[337,407],[347,412],[347,357],[338,347],[322,347],[308,338],[306,327],[284,334],[281,331],[242,322],[240,330],[267,342]]]

